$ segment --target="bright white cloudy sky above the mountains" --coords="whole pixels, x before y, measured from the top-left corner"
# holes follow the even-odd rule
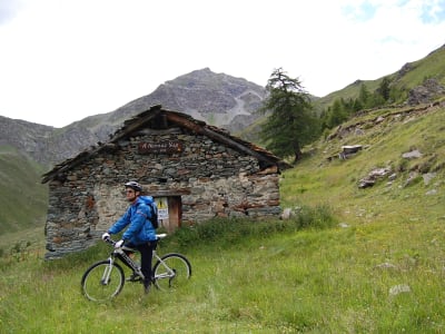
[[[0,115],[63,127],[204,68],[324,97],[444,45],[445,0],[0,0]]]

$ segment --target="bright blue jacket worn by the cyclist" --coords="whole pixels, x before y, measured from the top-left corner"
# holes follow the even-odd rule
[[[108,229],[108,233],[117,234],[129,225],[122,235],[122,239],[126,243],[129,242],[137,246],[156,240],[156,230],[150,223],[151,214],[151,208],[142,198],[138,197],[127,212]]]

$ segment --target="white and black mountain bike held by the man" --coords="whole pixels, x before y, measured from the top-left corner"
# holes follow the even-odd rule
[[[157,244],[167,234],[157,234],[156,244],[152,250],[152,277],[151,283],[158,289],[174,289],[191,276],[191,265],[186,256],[179,253],[169,253],[159,256],[156,252]],[[83,274],[81,289],[83,295],[93,302],[105,302],[116,297],[123,288],[126,282],[125,272],[116,258],[123,261],[132,268],[134,275],[127,282],[144,282],[145,277],[139,264],[134,261],[126,252],[136,253],[137,249],[129,247],[115,248],[116,242],[111,238],[105,239],[113,249],[107,259],[92,264]]]

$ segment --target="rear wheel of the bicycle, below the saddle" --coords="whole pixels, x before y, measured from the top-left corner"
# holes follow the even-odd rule
[[[191,265],[184,255],[170,253],[156,263],[154,275],[159,289],[174,289],[190,278]]]

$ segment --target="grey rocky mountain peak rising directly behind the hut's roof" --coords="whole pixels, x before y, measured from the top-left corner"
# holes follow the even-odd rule
[[[265,88],[241,78],[214,73],[209,68],[192,71],[160,85],[152,94],[113,111],[115,119],[126,119],[148,106],[186,112],[209,125],[230,129],[234,119],[250,117],[265,98]]]

